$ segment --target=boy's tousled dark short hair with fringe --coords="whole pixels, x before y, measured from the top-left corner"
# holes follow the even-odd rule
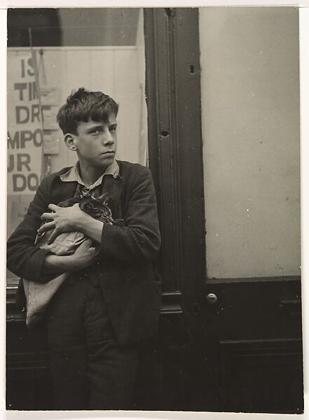
[[[114,113],[117,116],[118,104],[102,92],[90,92],[85,87],[71,92],[67,102],[62,105],[57,113],[57,123],[63,134],[77,134],[78,124],[82,121],[109,123],[109,116]]]

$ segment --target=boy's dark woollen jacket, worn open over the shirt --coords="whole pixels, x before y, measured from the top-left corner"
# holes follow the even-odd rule
[[[158,326],[160,282],[155,279],[151,261],[160,249],[156,194],[146,167],[117,161],[119,175],[104,176],[102,193],[109,193],[113,218],[123,218],[125,226],[104,225],[97,260],[78,276],[97,279],[102,288],[109,317],[120,344],[134,344],[152,337]],[[74,196],[77,183],[63,182],[60,175],[43,179],[24,220],[7,244],[7,266],[28,280],[44,282],[46,251],[34,246],[41,214]],[[59,290],[61,293],[61,290]]]

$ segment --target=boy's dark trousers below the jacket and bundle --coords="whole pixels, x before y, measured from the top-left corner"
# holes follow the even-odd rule
[[[69,279],[47,316],[55,409],[132,409],[139,346],[119,346],[99,286]]]

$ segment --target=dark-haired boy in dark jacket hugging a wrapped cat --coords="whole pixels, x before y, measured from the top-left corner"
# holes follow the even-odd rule
[[[8,268],[18,276],[46,282],[70,273],[46,310],[55,409],[132,408],[141,344],[157,330],[156,195],[149,169],[115,160],[117,113],[114,99],[102,92],[81,87],[67,98],[57,122],[78,162],[43,179],[8,239]],[[78,204],[57,206],[87,193],[108,193],[113,218],[125,226],[97,221]],[[74,255],[36,248],[37,232],[46,230],[53,230],[50,241],[61,232],[83,232],[99,248],[95,261],[90,241]]]

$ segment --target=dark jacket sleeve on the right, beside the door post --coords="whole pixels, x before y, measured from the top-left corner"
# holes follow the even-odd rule
[[[125,226],[104,225],[99,248],[102,259],[143,264],[156,258],[160,249],[160,230],[156,193],[151,172],[145,167],[135,176],[130,188]]]

